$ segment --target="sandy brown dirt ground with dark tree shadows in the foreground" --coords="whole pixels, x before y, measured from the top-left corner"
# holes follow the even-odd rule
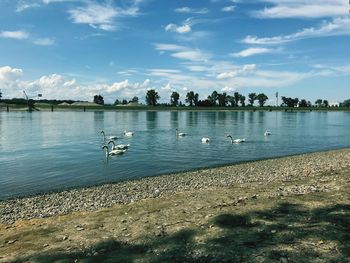
[[[0,225],[0,262],[350,262],[350,171]]]

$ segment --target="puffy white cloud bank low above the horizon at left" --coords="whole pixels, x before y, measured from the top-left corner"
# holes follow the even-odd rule
[[[0,86],[5,98],[23,97],[23,90],[28,96],[43,94],[45,99],[88,100],[96,94],[102,94],[113,102],[116,98],[131,98],[146,94],[150,80],[131,83],[129,80],[112,84],[97,83],[81,85],[75,79],[67,79],[60,74],[42,76],[33,81],[22,80],[23,71],[9,66],[0,67]]]

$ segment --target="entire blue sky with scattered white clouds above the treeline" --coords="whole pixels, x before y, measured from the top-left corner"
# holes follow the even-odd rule
[[[3,98],[350,98],[348,0],[0,0]]]

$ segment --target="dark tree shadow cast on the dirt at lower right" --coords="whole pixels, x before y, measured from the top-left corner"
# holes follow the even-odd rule
[[[219,214],[204,227],[108,240],[81,252],[38,253],[17,262],[350,262],[350,205],[314,210],[280,203]]]

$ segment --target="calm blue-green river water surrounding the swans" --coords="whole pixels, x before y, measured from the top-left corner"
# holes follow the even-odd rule
[[[101,130],[130,149],[106,162]],[[0,112],[0,199],[342,147],[348,112]]]

